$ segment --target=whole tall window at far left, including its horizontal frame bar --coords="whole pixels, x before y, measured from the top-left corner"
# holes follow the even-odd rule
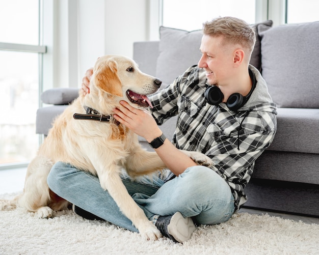
[[[0,0],[0,168],[36,154],[41,55],[39,0]]]

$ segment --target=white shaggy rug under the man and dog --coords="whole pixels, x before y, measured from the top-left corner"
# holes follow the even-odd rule
[[[12,194],[2,194],[9,199]],[[0,211],[0,254],[319,254],[319,225],[265,215],[235,214],[228,222],[201,225],[184,244],[144,241],[110,223],[72,211],[39,219],[21,209]]]

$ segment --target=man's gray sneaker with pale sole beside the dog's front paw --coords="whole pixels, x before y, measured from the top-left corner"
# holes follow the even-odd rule
[[[189,240],[196,229],[192,218],[184,218],[180,212],[170,216],[159,216],[155,226],[163,236],[178,243]]]

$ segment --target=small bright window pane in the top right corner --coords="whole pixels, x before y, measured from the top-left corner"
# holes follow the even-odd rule
[[[318,21],[318,11],[318,0],[288,0],[287,23]]]

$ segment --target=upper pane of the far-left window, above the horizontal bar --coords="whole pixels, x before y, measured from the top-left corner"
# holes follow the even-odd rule
[[[39,0],[0,0],[0,42],[39,44]]]

